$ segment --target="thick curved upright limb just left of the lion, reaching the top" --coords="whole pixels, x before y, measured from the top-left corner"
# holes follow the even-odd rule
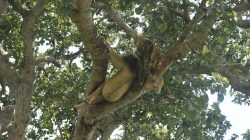
[[[94,27],[90,0],[74,0],[75,9],[71,13],[71,20],[77,26],[84,47],[93,60],[91,78],[86,87],[87,95],[98,87],[106,77],[108,57],[105,53],[107,46],[97,35]]]

